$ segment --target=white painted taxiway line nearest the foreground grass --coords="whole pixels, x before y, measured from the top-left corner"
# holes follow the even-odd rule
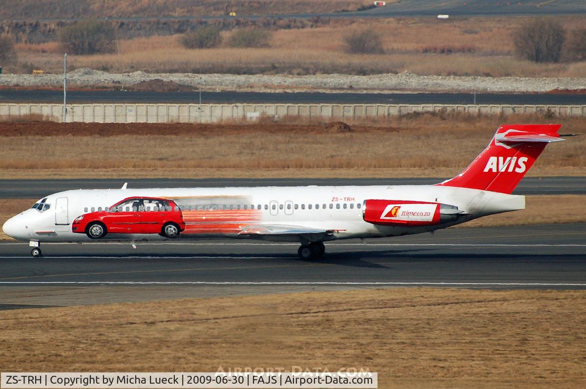
[[[229,282],[229,281],[0,281],[0,284],[51,284],[51,285],[433,285],[433,286],[586,286],[574,283],[546,282]]]

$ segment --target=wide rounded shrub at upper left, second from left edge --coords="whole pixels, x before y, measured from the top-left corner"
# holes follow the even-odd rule
[[[84,20],[65,26],[57,33],[62,49],[70,54],[114,52],[116,34],[110,22]]]

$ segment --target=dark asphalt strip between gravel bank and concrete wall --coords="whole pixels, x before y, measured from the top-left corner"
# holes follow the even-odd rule
[[[584,105],[586,94],[202,92],[202,104],[550,104]],[[63,91],[1,89],[2,103],[63,103]],[[199,103],[193,92],[67,91],[67,103]]]

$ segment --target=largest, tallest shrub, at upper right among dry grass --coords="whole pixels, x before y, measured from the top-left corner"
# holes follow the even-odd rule
[[[513,32],[517,56],[533,62],[560,62],[565,30],[552,19],[534,19]]]

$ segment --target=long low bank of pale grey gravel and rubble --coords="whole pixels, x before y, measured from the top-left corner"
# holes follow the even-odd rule
[[[69,84],[78,87],[113,86],[124,89],[137,83],[160,79],[180,85],[213,91],[328,91],[328,92],[484,92],[531,93],[554,89],[586,88],[586,78],[522,78],[522,77],[447,77],[417,76],[405,71],[400,74],[350,76],[323,74],[315,76],[236,75],[236,74],[151,74],[144,71],[110,74],[92,69],[77,69],[67,74]],[[2,74],[0,86],[60,87],[62,74]]]

